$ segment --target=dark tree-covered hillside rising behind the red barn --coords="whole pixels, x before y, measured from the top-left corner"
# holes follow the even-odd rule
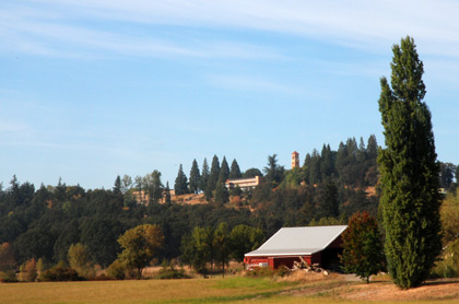
[[[82,243],[93,262],[107,267],[120,252],[118,237],[143,223],[162,229],[160,258],[180,256],[183,237],[196,226],[246,224],[260,227],[269,237],[282,226],[345,223],[356,211],[377,214],[377,151],[376,138],[370,136],[366,143],[349,139],[338,151],[325,144],[294,169],[280,166],[275,154],[262,171],[242,172],[236,160],[229,166],[216,155],[210,167],[203,160],[199,169],[195,161],[189,177],[180,165],[174,185],[177,195],[204,192],[207,202],[193,206],[170,199],[169,186],[163,185],[157,171],[133,182],[118,176],[113,189],[83,189],[62,182],[35,188],[14,176],[8,188],[0,189],[0,244],[9,243],[21,265],[31,258],[49,264],[66,260],[69,247]],[[443,168],[446,186],[454,187],[456,166],[443,164]],[[260,174],[263,183],[252,190],[228,192],[224,187],[228,177]],[[140,190],[149,195],[144,203],[134,199],[133,192]]]

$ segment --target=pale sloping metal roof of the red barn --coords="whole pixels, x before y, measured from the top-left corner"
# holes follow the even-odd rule
[[[346,227],[346,225],[283,227],[260,248],[245,256],[313,255],[327,248]]]

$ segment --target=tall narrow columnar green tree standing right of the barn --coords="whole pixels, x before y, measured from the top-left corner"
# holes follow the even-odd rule
[[[380,203],[388,270],[397,285],[409,289],[427,278],[442,250],[439,167],[413,38],[401,39],[392,51],[391,87],[380,80],[386,142],[378,155]]]

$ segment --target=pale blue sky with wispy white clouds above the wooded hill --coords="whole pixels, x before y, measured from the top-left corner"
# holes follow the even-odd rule
[[[457,1],[0,2],[0,182],[174,185],[216,154],[290,167],[375,133],[379,79],[411,35],[438,159],[459,164]]]

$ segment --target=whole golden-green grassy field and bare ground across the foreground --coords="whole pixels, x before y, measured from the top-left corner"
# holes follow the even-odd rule
[[[459,303],[459,280],[402,291],[387,280],[295,273],[289,278],[1,283],[0,303]]]

